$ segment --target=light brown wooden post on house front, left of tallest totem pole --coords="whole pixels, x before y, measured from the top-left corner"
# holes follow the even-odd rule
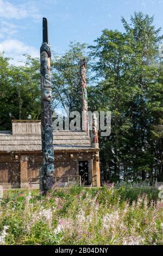
[[[28,187],[28,157],[20,157],[21,188]]]

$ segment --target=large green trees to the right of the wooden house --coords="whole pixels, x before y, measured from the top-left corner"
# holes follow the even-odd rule
[[[153,181],[162,175],[160,139],[151,133],[162,115],[162,36],[153,17],[135,13],[130,21],[122,18],[124,33],[104,29],[90,47],[101,109],[112,113],[111,136],[101,138],[104,179]]]

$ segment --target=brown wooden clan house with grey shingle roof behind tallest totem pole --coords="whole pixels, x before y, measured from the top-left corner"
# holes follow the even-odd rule
[[[83,131],[53,131],[55,185],[100,186],[99,148]],[[0,131],[0,185],[39,188],[40,120],[12,120],[12,131]]]

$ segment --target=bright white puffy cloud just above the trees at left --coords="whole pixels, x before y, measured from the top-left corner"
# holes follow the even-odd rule
[[[5,56],[9,58],[13,58],[10,60],[10,64],[13,65],[23,65],[23,62],[26,57],[23,54],[29,54],[32,57],[39,57],[39,51],[32,46],[28,46],[19,40],[4,40],[0,44],[0,52],[5,52]]]

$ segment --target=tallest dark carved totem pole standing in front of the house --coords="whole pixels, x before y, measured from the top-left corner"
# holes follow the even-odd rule
[[[54,149],[52,126],[52,80],[51,48],[48,44],[47,19],[43,18],[43,42],[40,48],[41,62],[41,141],[42,170],[40,175],[41,191],[46,192],[54,184]]]

